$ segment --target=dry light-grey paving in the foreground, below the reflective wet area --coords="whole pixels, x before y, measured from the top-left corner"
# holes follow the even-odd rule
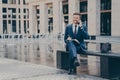
[[[0,80],[107,80],[88,75],[68,75],[65,71],[38,64],[0,58]]]

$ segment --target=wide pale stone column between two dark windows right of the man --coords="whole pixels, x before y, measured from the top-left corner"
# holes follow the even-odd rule
[[[88,32],[90,35],[100,34],[100,0],[88,0]]]

